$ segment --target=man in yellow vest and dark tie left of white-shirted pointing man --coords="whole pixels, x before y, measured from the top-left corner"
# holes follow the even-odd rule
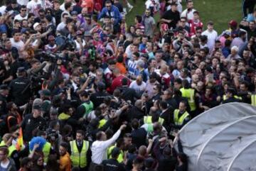
[[[89,141],[84,140],[85,132],[78,130],[75,140],[70,141],[70,159],[73,167],[80,167],[80,170],[87,170],[87,165],[90,162]]]

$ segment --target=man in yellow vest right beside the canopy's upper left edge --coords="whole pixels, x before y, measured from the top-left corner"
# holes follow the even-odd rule
[[[181,129],[190,120],[190,115],[186,111],[186,101],[181,101],[178,109],[174,110],[174,127]]]

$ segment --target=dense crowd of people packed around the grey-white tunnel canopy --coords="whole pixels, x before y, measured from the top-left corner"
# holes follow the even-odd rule
[[[254,0],[223,33],[191,0],[146,0],[128,24],[137,3],[3,2],[0,171],[187,171],[178,130],[256,106]]]

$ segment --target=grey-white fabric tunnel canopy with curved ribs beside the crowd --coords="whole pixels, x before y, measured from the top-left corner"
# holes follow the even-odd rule
[[[256,107],[230,103],[183,126],[180,140],[189,171],[256,170]],[[174,140],[177,149],[176,140]]]

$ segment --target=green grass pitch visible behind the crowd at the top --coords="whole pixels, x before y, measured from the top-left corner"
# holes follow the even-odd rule
[[[184,0],[183,0],[184,1]],[[127,14],[127,26],[134,24],[134,17],[144,13],[144,0],[137,0],[136,4],[129,2],[134,6],[134,9]],[[184,3],[183,3],[184,4]],[[194,0],[194,8],[200,12],[204,26],[207,21],[212,20],[215,23],[215,30],[222,33],[228,28],[228,22],[231,19],[240,22],[242,19],[242,1],[241,0]],[[186,7],[183,5],[183,9]],[[159,16],[156,16],[156,20]]]

